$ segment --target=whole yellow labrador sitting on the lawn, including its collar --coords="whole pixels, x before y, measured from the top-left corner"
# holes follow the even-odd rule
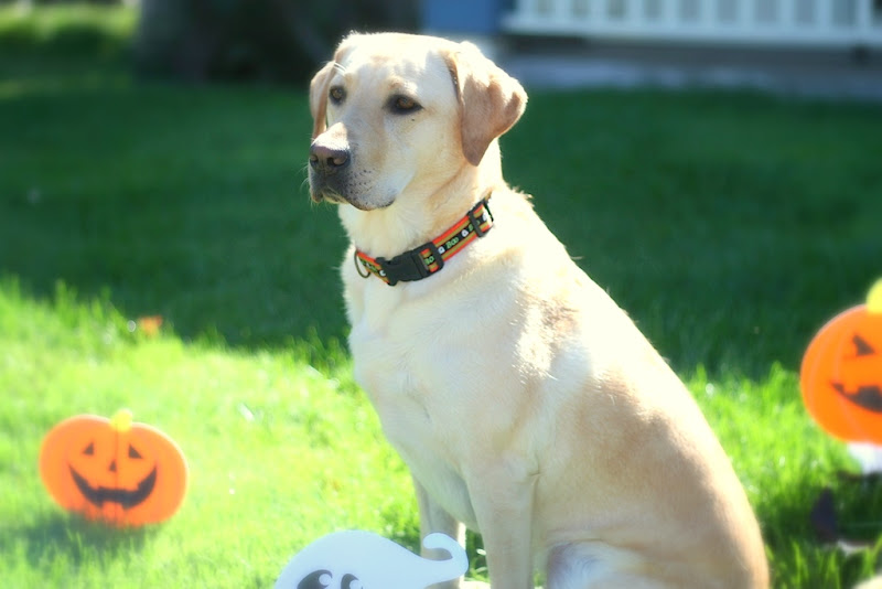
[[[480,532],[495,589],[535,569],[549,589],[765,587],[690,394],[503,180],[526,101],[474,45],[391,33],[345,39],[310,89],[311,194],[352,242],[356,378],[421,533]]]

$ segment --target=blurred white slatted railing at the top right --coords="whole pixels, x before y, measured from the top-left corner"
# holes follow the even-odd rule
[[[512,33],[882,46],[882,0],[515,0]]]

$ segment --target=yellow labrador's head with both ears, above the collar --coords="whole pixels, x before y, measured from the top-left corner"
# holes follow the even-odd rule
[[[313,200],[363,211],[432,193],[524,113],[520,84],[471,43],[354,34],[312,79]]]

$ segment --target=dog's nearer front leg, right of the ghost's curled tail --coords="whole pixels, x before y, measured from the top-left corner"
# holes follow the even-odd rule
[[[469,494],[487,554],[490,585],[533,589],[533,501],[536,474],[499,462],[475,472]]]

